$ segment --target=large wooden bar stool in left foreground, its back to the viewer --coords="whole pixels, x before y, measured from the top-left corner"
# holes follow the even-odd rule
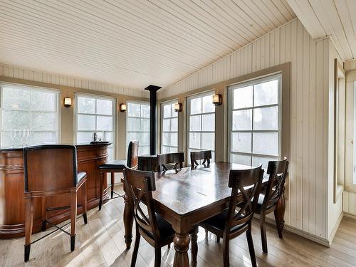
[[[25,255],[24,260],[30,257],[32,226],[33,226],[33,204],[34,199],[42,199],[42,231],[46,230],[46,224],[55,226],[57,230],[70,235],[70,251],[75,248],[75,221],[77,216],[77,194],[82,188],[79,206],[83,206],[83,219],[87,224],[87,195],[85,172],[77,170],[77,150],[73,145],[39,145],[23,148],[23,170],[25,177]],[[46,197],[69,194],[69,206],[48,207]],[[36,202],[37,203],[37,202]],[[70,209],[70,233],[51,224],[46,220],[47,211],[58,211]],[[52,234],[52,231],[50,234]],[[49,235],[49,234],[48,234]],[[48,236],[46,235],[46,236]],[[44,237],[44,236],[43,236]],[[41,237],[40,239],[43,239]]]

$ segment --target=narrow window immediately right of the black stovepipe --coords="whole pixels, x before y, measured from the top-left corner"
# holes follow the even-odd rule
[[[174,111],[174,103],[161,105],[161,153],[172,153],[178,150],[178,113]]]

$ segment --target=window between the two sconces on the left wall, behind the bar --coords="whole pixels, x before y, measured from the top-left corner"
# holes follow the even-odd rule
[[[85,144],[93,140],[96,131],[98,138],[111,142],[108,147],[109,159],[115,159],[115,99],[92,95],[75,95],[76,142]]]

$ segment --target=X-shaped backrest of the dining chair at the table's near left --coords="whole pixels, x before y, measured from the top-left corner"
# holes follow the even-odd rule
[[[137,223],[136,227],[150,232],[159,240],[159,230],[155,216],[152,191],[155,191],[155,172],[124,169],[125,187],[130,201],[130,210]],[[147,209],[147,210],[146,210]]]

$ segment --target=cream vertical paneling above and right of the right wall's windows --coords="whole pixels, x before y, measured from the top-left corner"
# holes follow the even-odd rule
[[[328,239],[328,42],[328,39],[314,41],[300,21],[290,21],[234,51],[225,61],[216,61],[199,70],[198,86],[190,88],[194,90],[228,77],[291,63],[290,171],[285,221],[289,226],[325,239]],[[195,84],[193,76],[185,82]],[[162,90],[159,98],[173,97],[183,89],[181,83],[176,83]]]

